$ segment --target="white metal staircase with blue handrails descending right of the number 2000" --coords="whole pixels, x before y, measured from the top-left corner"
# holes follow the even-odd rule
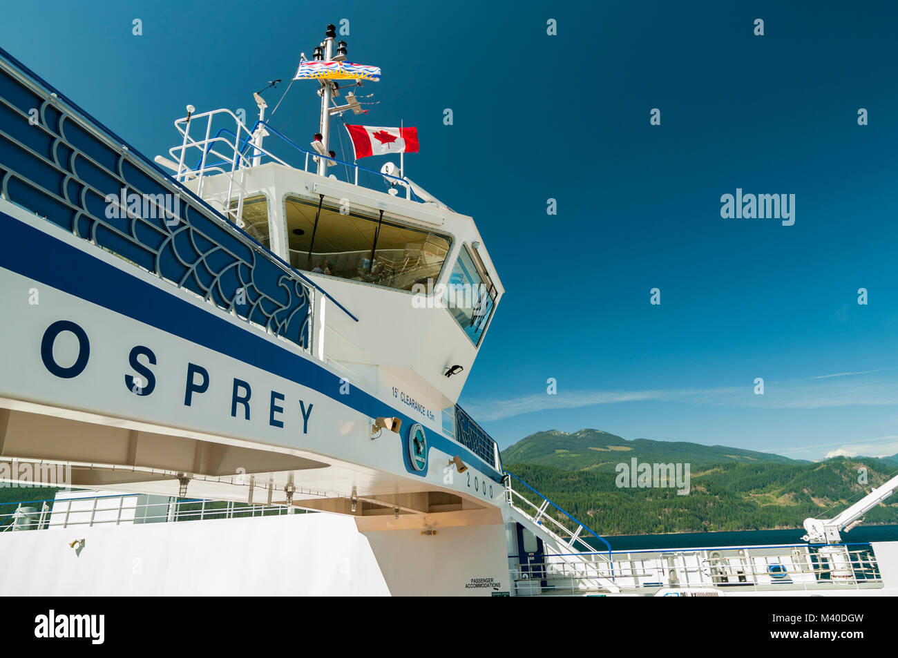
[[[545,583],[539,593],[621,592],[614,582],[611,545],[523,480],[508,471],[505,475],[506,521],[520,523],[532,532],[542,540],[545,551],[541,564],[524,564],[520,551],[509,556],[512,581],[519,593],[522,583],[535,593],[536,572]],[[602,541],[607,554],[596,550],[587,537]]]

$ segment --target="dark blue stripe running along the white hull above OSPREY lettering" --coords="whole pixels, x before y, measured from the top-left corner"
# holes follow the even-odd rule
[[[351,386],[347,395],[339,395],[340,377],[311,359],[269,342],[251,328],[234,325],[219,317],[216,311],[200,308],[101,259],[92,258],[3,212],[0,212],[0,232],[4,236],[0,240],[0,267],[306,386],[365,416],[399,417],[403,427],[418,422],[356,386]],[[334,392],[326,392],[329,390]],[[389,434],[392,433],[384,435]],[[405,469],[414,475],[427,475],[427,469],[417,471],[412,467],[404,434],[396,435],[395,440]],[[446,454],[462,456],[493,481],[501,480],[496,469],[435,430],[427,432],[427,443]],[[427,463],[429,466],[429,460]]]

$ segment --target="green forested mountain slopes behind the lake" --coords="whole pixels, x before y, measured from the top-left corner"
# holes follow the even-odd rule
[[[634,457],[640,464],[690,464],[689,494],[619,487],[633,481],[621,481],[616,466],[629,468]],[[532,434],[502,459],[507,470],[609,535],[800,528],[808,516],[841,512],[898,471],[894,458],[794,461],[723,446],[627,441],[597,430]],[[898,523],[898,495],[867,513],[865,523]]]

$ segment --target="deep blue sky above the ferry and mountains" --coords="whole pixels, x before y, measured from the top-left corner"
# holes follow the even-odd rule
[[[152,157],[187,103],[249,112],[346,18],[349,58],[383,69],[365,120],[418,127],[409,176],[477,220],[506,286],[462,395],[500,445],[594,427],[801,459],[898,452],[892,4],[256,12],[10,3],[0,44]],[[311,92],[296,83],[272,119],[299,142],[317,127]],[[722,218],[737,188],[795,194],[795,224]]]

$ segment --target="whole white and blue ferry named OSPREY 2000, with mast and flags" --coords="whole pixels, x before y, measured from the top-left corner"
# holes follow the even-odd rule
[[[65,485],[0,508],[0,594],[898,593],[898,542],[840,534],[898,478],[801,545],[615,551],[507,472],[458,405],[477,224],[330,149],[379,77],[329,25],[306,139],[256,92],[150,158],[0,50],[0,479]]]

